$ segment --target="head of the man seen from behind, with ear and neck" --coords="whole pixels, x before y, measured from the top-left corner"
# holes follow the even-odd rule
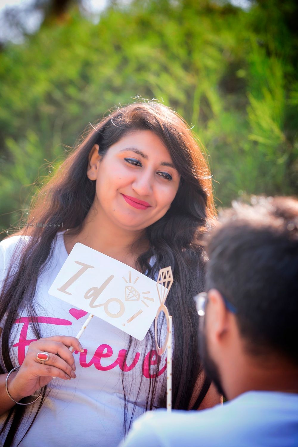
[[[199,345],[207,373],[231,398],[243,380],[260,389],[260,371],[264,381],[273,365],[298,372],[298,201],[235,202],[219,220],[207,240]]]

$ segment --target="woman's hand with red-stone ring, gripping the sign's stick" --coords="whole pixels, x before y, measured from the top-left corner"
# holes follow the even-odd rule
[[[15,401],[20,401],[25,396],[31,396],[39,388],[47,385],[53,377],[70,380],[75,379],[75,359],[69,347],[83,352],[79,340],[75,337],[54,336],[40,338],[31,342],[17,374],[8,380],[9,394]],[[49,359],[42,364],[36,358],[38,352],[46,351]]]

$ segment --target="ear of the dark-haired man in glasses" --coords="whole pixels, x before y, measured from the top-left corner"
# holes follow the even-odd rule
[[[216,289],[208,291],[207,324],[212,341],[217,343],[229,329],[228,310],[222,295]]]

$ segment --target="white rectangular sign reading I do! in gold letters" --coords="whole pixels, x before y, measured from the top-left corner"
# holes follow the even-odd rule
[[[48,293],[138,340],[144,339],[160,306],[153,279],[79,242]]]

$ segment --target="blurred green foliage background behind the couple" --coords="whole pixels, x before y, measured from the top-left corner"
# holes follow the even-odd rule
[[[295,0],[0,1],[0,239],[88,122],[138,97],[193,127],[218,207],[296,194],[297,30]]]

